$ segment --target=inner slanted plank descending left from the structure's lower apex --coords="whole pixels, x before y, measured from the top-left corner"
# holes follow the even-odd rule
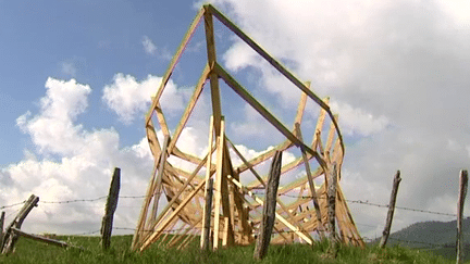
[[[175,131],[173,134],[173,137],[172,137],[172,140],[170,142],[170,146],[168,147],[168,149],[169,149],[168,152],[169,153],[172,153],[173,148],[176,146],[176,141],[178,140],[180,135],[183,131],[183,128],[186,126],[186,123],[187,123],[187,121],[189,118],[189,115],[193,113],[193,110],[196,106],[196,102],[199,99],[199,97],[200,97],[200,95],[202,92],[203,85],[205,85],[205,83],[206,83],[206,80],[208,78],[208,74],[209,74],[209,66],[206,65],[205,70],[202,71],[201,77],[199,78],[199,80],[198,80],[198,83],[196,85],[196,88],[195,88],[195,90],[193,92],[191,99],[189,100],[189,103],[187,104],[187,106],[185,109],[185,112],[183,113],[183,116],[182,116],[182,118],[180,121],[180,124],[177,125],[177,127],[176,127],[176,129],[175,129]]]

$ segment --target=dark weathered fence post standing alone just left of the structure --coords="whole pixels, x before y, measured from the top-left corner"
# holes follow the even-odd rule
[[[104,216],[101,222],[101,246],[108,250],[111,246],[111,232],[114,218],[114,212],[118,208],[119,191],[121,187],[121,168],[115,167],[111,179],[110,191],[104,210]]]

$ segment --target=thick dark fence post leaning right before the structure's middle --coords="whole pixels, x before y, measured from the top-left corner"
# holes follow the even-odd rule
[[[268,178],[265,191],[265,201],[263,205],[263,216],[260,226],[260,234],[255,248],[256,260],[261,260],[268,252],[268,247],[271,241],[271,234],[274,227],[275,208],[277,198],[277,188],[281,177],[282,152],[276,151],[271,164],[271,169]]]

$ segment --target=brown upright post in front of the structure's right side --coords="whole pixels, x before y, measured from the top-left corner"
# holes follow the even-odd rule
[[[336,240],[335,219],[336,219],[336,183],[337,165],[336,162],[331,164],[327,180],[327,216],[329,216],[329,239],[330,242]]]

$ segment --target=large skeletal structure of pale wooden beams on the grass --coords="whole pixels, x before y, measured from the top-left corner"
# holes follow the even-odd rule
[[[218,63],[213,17],[300,89],[301,97],[297,114],[289,126],[280,122]],[[160,99],[200,21],[205,22],[208,62],[195,86],[193,97],[180,124],[171,134],[160,105]],[[246,159],[225,135],[225,122],[228,123],[230,121],[225,121],[222,113],[220,79],[279,130],[284,136],[285,141],[262,152],[259,156]],[[212,106],[208,136],[209,147],[205,156],[196,156],[181,151],[176,143],[205,89],[206,83],[210,83],[210,87],[206,87],[206,89],[210,89]],[[309,100],[320,106],[320,113],[316,121],[317,126],[312,134],[312,140],[305,141],[301,134],[301,123],[306,103]],[[158,140],[156,123],[164,135],[163,142]],[[281,178],[284,181],[287,180],[288,184],[281,186],[277,191],[276,221],[271,242],[290,243],[299,241],[311,244],[314,239],[323,237],[329,231],[326,225],[327,176],[335,172],[333,167],[337,167],[337,173],[334,173],[333,176],[338,177],[339,181],[341,165],[344,158],[344,144],[337,125],[337,115],[333,115],[331,112],[327,99],[321,100],[317,97],[308,84],[301,83],[284,68],[281,63],[212,5],[205,5],[199,11],[171,61],[146,116],[146,129],[148,142],[154,156],[154,166],[133,239],[132,247],[134,250],[145,250],[156,241],[159,241],[161,246],[182,248],[191,239],[201,237],[201,232],[207,228],[210,228],[212,234],[213,249],[220,246],[253,242],[261,221],[263,204],[263,196],[253,192],[263,189],[267,180],[267,175],[261,175],[259,168],[268,163],[277,150],[293,151],[294,148],[297,148],[296,151],[301,155],[282,166]],[[171,163],[171,158],[191,163],[196,168],[187,171],[177,167]],[[233,159],[243,162],[239,165],[234,165]],[[317,164],[316,167],[313,164]],[[333,166],[333,164],[336,165]],[[286,176],[287,173],[299,167],[305,168],[304,176]],[[244,183],[245,177],[252,177],[256,180],[244,185],[242,183]],[[206,183],[209,183],[210,178],[214,179],[213,206],[207,210],[205,209],[205,192],[207,192]],[[288,180],[290,178],[292,180]],[[161,202],[164,208],[159,209],[162,197],[165,198],[166,202]],[[363,246],[339,185],[337,186],[335,211],[338,226],[337,237],[345,243]],[[205,223],[209,222],[203,221],[207,215],[211,217],[210,226],[206,226]]]

